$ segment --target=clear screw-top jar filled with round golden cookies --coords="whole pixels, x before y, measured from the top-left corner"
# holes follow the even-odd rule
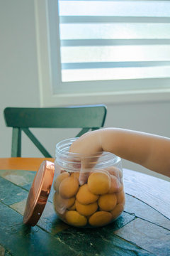
[[[65,223],[94,228],[113,222],[123,212],[125,192],[121,159],[109,152],[86,159],[81,169],[80,154],[69,153],[77,138],[56,146],[53,205]],[[82,159],[82,155],[81,155]]]

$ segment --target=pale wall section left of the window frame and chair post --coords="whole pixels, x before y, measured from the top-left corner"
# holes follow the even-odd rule
[[[33,1],[0,0],[0,156],[10,156],[5,107],[38,107],[38,67]]]

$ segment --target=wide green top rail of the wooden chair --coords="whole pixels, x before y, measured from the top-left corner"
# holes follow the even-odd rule
[[[7,107],[4,114],[8,127],[91,128],[103,127],[106,107]]]

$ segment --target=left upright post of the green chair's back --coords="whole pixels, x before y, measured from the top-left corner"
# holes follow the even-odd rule
[[[12,134],[11,157],[21,156],[21,129],[14,127]]]

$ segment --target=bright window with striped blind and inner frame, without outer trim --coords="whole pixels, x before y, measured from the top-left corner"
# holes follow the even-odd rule
[[[53,96],[169,92],[170,1],[48,0],[45,14]]]

